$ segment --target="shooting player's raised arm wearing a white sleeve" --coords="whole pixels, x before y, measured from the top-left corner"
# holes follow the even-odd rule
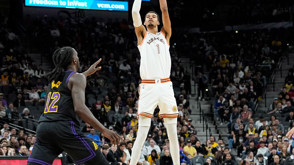
[[[141,2],[142,0],[135,0],[132,9],[132,17],[136,36],[138,38],[138,45],[140,45],[140,43],[143,41],[144,35],[146,33],[146,28],[142,25],[141,16],[139,13],[141,9]]]

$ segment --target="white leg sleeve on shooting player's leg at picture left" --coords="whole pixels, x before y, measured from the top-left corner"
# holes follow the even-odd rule
[[[141,124],[144,123],[144,125],[148,125],[148,123],[149,123],[149,126],[140,126],[140,123]],[[151,118],[147,118],[147,117],[143,117],[143,116],[139,117],[138,134],[137,134],[135,143],[133,145],[130,165],[137,165],[137,163],[138,163],[138,160],[141,155],[143,144],[144,144],[144,142],[147,138],[148,132],[149,132],[150,123],[151,123]]]

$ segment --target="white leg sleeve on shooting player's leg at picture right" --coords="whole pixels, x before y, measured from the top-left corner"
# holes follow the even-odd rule
[[[169,139],[169,146],[171,150],[171,158],[173,159],[173,165],[180,165],[180,147],[178,144],[177,124],[174,123],[174,121],[177,122],[177,119],[164,118],[163,120],[166,123],[166,131]]]

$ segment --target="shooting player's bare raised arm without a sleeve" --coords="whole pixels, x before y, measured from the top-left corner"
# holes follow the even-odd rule
[[[169,44],[169,38],[171,37],[171,20],[169,19],[166,0],[159,0],[159,4],[160,4],[161,12],[162,12],[162,23],[163,23],[163,27],[161,28],[161,31],[165,33],[166,41]]]

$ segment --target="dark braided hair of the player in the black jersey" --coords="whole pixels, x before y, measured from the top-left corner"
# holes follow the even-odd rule
[[[64,75],[63,69],[67,67],[73,58],[73,48],[66,46],[55,50],[53,53],[53,63],[55,65],[52,72],[45,75],[45,78],[48,79],[49,83],[53,80],[60,80]]]

